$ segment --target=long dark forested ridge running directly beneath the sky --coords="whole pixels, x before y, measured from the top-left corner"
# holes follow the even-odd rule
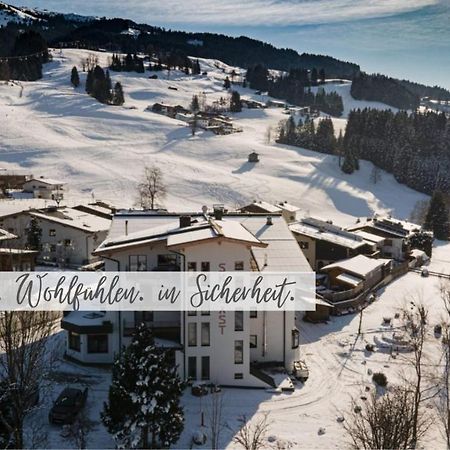
[[[48,24],[51,23],[51,27]],[[219,59],[229,65],[247,68],[263,63],[273,69],[290,70],[293,67],[323,67],[333,78],[352,78],[358,71],[357,64],[338,60],[331,56],[314,55],[285,48],[276,48],[248,37],[230,37],[215,33],[189,33],[167,30],[125,19],[74,20],[59,16],[49,18],[45,33],[52,45],[77,43],[85,48],[104,48],[121,53],[149,53],[151,46],[156,53],[177,50],[184,55]],[[141,33],[125,34],[129,28]],[[199,44],[192,44],[198,42]]]

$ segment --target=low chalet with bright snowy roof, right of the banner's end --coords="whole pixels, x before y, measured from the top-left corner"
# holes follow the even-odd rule
[[[373,259],[358,255],[322,267],[328,275],[328,286],[335,291],[365,291],[379,283],[391,271],[389,259]]]

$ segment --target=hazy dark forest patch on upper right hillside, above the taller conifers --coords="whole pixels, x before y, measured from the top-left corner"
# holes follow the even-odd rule
[[[409,86],[385,75],[368,75],[361,72],[353,78],[350,91],[357,100],[386,103],[398,109],[415,110],[420,105],[420,96]]]

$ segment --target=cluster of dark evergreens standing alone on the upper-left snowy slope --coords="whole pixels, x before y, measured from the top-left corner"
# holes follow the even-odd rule
[[[74,73],[72,72],[71,79],[73,80],[73,78]],[[88,70],[86,76],[86,92],[100,103],[123,105],[125,102],[121,83],[117,82],[113,88],[109,71],[104,71],[98,65]]]

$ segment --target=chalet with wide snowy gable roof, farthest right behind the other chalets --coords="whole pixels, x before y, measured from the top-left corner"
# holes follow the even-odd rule
[[[381,256],[403,261],[409,253],[408,239],[421,230],[421,226],[392,217],[367,218],[349,227],[349,231],[364,231],[384,238]]]

